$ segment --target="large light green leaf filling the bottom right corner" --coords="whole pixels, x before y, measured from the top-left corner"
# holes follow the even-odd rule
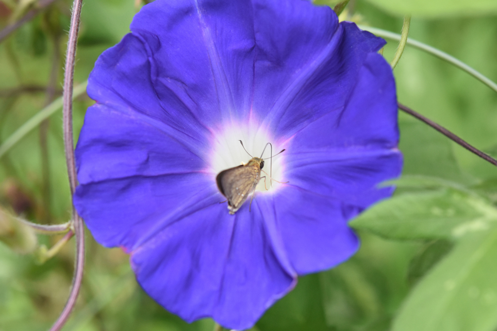
[[[497,327],[497,229],[465,237],[411,292],[393,331]]]

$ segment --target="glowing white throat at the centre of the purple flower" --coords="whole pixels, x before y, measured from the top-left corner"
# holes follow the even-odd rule
[[[256,190],[274,192],[275,189],[283,185],[273,180],[271,186],[269,177],[278,181],[285,181],[283,176],[285,152],[275,156],[285,147],[276,141],[268,130],[262,128],[258,123],[240,124],[230,122],[226,123],[223,126],[223,130],[215,133],[214,136],[215,141],[213,142],[213,153],[211,154],[210,164],[212,171],[216,175],[223,170],[247,164],[252,157],[260,158],[262,155],[261,158],[264,159],[264,166],[260,173],[261,179],[257,184]],[[243,147],[240,144],[240,140],[244,144]],[[271,143],[272,145],[272,158],[271,146],[267,145],[267,143]],[[247,152],[244,150],[244,147]],[[264,151],[264,154],[262,154],[262,151]],[[264,176],[266,177],[262,178]],[[266,183],[265,187],[264,179]]]

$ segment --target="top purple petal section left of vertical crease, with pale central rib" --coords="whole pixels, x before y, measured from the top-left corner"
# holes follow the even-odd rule
[[[254,56],[250,1],[154,2],[135,16],[131,30],[148,45],[161,99],[172,92],[215,129],[220,118],[248,112]]]

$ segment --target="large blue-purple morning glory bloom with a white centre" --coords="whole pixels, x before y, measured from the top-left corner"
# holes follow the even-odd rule
[[[157,0],[131,31],[89,77],[76,208],[167,310],[249,328],[298,275],[349,258],[347,221],[392,193],[384,41],[304,0]],[[239,140],[286,149],[271,161],[288,183],[261,180],[230,215],[216,175],[250,159]]]

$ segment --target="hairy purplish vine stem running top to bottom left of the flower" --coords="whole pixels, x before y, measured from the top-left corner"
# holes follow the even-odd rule
[[[74,80],[74,65],[76,58],[76,47],[78,43],[78,32],[80,29],[81,6],[83,0],[74,0],[73,14],[71,16],[71,28],[69,30],[69,41],[67,45],[66,67],[64,75],[64,95],[62,119],[64,129],[64,149],[66,152],[66,163],[69,175],[69,186],[71,187],[71,196],[74,195],[76,185],[76,163],[74,158],[74,141],[73,141],[73,80]],[[78,215],[78,211],[73,205],[73,222],[74,232],[76,235],[76,265],[74,270],[73,284],[71,293],[67,300],[66,306],[62,310],[61,315],[54,323],[50,331],[61,330],[69,318],[80,293],[81,282],[83,280],[84,266],[84,228],[83,219]]]

